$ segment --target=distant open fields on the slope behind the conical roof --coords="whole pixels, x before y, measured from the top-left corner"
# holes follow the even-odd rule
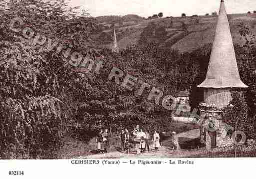
[[[198,16],[198,17],[173,17],[173,18],[156,18],[149,20],[137,21],[134,24],[116,27],[119,31],[125,31],[132,28],[136,32],[126,34],[125,36],[118,38],[118,46],[120,49],[126,48],[128,45],[137,43],[140,39],[141,32],[150,23],[155,22],[157,26],[164,26],[168,32],[167,40],[165,42],[171,42],[172,48],[178,49],[181,52],[190,52],[198,49],[205,44],[211,43],[214,40],[216,22],[218,16]],[[228,15],[231,32],[233,36],[234,44],[244,44],[244,40],[239,34],[241,23],[246,23],[251,26],[253,32],[256,33],[256,14],[229,14]],[[185,28],[184,29],[184,24]],[[111,33],[111,30],[104,30]],[[110,42],[108,47],[112,46]],[[169,44],[169,43],[168,43]]]

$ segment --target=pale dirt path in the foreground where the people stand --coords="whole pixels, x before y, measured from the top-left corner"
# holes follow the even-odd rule
[[[200,135],[199,129],[194,129],[191,131],[183,132],[178,134],[179,138],[189,138],[189,139],[196,139]],[[164,143],[171,142],[171,139],[168,139]],[[107,154],[95,154],[89,156],[80,156],[78,159],[115,159],[115,158],[183,158],[188,157],[192,153],[187,150],[181,151],[174,151],[170,147],[161,146],[159,151],[155,151],[153,146],[150,146],[150,152],[142,153],[137,155],[134,149],[131,149],[130,154],[126,154],[124,152],[109,152]]]

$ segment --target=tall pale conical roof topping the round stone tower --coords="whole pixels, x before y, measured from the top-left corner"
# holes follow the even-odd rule
[[[224,0],[220,12],[205,81],[202,88],[247,88],[240,78]]]

